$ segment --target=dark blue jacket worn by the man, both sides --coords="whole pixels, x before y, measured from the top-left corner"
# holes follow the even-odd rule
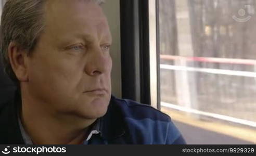
[[[185,144],[170,117],[148,105],[111,97],[88,144]],[[24,144],[14,100],[0,108],[0,144]]]

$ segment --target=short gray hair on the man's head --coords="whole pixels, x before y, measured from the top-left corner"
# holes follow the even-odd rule
[[[104,0],[83,0],[92,1],[98,5]],[[28,51],[29,55],[39,40],[44,30],[44,6],[46,0],[8,0],[3,9],[1,18],[1,54],[5,72],[11,80],[19,84],[19,81],[11,68],[8,58],[8,46],[10,42],[17,43]]]

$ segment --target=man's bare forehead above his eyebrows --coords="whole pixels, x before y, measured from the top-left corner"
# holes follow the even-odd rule
[[[97,32],[110,36],[107,18],[93,1],[50,0],[45,6],[45,30],[55,35]]]

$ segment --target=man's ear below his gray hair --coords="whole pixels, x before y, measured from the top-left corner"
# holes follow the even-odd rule
[[[28,56],[17,43],[10,42],[8,56],[11,68],[20,82],[28,81]]]

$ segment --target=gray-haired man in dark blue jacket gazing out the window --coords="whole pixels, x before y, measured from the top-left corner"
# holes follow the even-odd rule
[[[2,54],[18,91],[0,108],[1,144],[185,144],[168,115],[111,96],[100,4],[6,2]]]

